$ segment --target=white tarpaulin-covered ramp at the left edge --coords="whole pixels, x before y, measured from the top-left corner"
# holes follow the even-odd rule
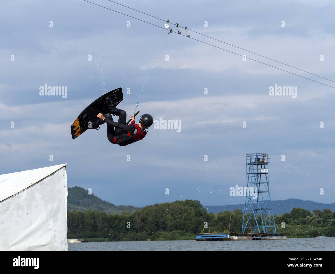
[[[68,250],[65,165],[0,175],[0,250]]]

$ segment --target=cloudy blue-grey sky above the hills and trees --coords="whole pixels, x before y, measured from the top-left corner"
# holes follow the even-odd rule
[[[91,2],[164,27],[108,0]],[[117,2],[335,81],[333,1]],[[189,31],[194,39],[172,33],[138,110],[181,120],[182,130],[150,128],[144,140],[127,147],[109,143],[106,126],[72,140],[74,119],[110,90],[122,87],[119,107],[131,115],[167,31],[82,0],[7,1],[0,15],[1,174],[67,163],[69,187],[91,188],[115,204],[197,199],[225,205],[244,202],[229,196],[229,187],[246,184],[245,155],[259,152],[271,158],[273,200],[334,202],[335,89],[194,39],[334,82],[195,32]],[[40,96],[45,85],[66,86],[67,98]],[[296,98],[269,96],[274,85],[296,87]]]

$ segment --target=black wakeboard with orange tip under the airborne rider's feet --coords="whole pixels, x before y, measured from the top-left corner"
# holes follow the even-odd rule
[[[100,96],[79,114],[79,116],[71,125],[72,139],[77,138],[88,129],[87,127],[83,126],[82,116],[84,114],[86,114],[92,121],[95,121],[97,119],[96,115],[99,112],[102,114],[108,113],[107,107],[105,105],[105,98],[108,96],[112,98],[114,105],[117,106],[123,100],[122,88],[112,90],[103,96]]]

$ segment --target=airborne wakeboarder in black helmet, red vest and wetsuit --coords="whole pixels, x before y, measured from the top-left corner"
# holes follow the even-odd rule
[[[98,119],[92,123],[91,128],[99,129],[99,126],[107,123],[107,138],[112,144],[127,146],[134,142],[142,140],[147,131],[146,129],[153,124],[153,118],[150,114],[143,114],[138,122],[135,123],[134,115],[131,116],[131,124],[127,125],[127,113],[114,106],[112,98],[106,97],[105,104],[110,113],[98,113]],[[119,116],[118,122],[113,121],[113,115]]]

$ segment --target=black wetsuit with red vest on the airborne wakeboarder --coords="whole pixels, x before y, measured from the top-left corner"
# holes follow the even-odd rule
[[[142,140],[146,134],[146,131],[142,132],[138,125],[132,122],[130,125],[126,124],[127,113],[122,109],[113,109],[115,115],[119,116],[118,122],[113,121],[113,115],[107,113],[104,115],[105,120],[98,119],[98,124],[102,125],[107,123],[107,138],[112,144],[119,146],[127,146],[136,141]],[[135,135],[137,136],[135,137]]]

